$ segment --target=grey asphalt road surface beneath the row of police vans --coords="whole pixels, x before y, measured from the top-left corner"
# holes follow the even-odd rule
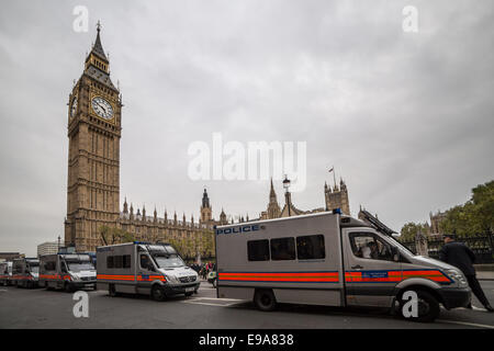
[[[494,281],[481,281],[494,302]],[[0,286],[0,328],[206,328],[206,329],[494,329],[494,314],[441,309],[433,324],[400,319],[382,310],[324,306],[280,305],[276,312],[257,310],[251,302],[216,298],[216,290],[202,281],[199,294],[155,302],[148,296],[110,297],[88,291],[89,317],[76,318],[72,294],[45,288]]]

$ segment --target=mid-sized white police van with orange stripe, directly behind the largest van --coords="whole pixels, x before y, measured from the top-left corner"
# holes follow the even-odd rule
[[[197,293],[198,273],[169,244],[134,241],[97,248],[98,290],[150,294],[156,301]]]

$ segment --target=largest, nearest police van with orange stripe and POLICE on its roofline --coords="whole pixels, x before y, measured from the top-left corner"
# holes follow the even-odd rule
[[[373,306],[431,321],[439,304],[470,303],[457,268],[339,211],[217,226],[215,240],[217,297],[254,301],[261,310],[277,303]]]

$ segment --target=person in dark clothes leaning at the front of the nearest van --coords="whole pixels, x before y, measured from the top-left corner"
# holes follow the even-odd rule
[[[447,234],[445,235],[445,246],[439,251],[439,259],[460,269],[469,281],[470,288],[476,298],[479,298],[487,312],[494,312],[494,308],[492,308],[475,278],[475,269],[473,268],[475,253],[472,250],[464,244],[454,241],[454,235]]]

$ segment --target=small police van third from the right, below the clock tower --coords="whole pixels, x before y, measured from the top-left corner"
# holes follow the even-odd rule
[[[96,288],[97,272],[89,254],[56,253],[40,257],[40,285],[47,288]]]

